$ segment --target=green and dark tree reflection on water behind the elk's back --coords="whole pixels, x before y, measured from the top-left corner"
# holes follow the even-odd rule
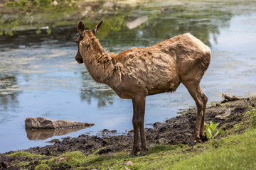
[[[220,28],[228,27],[233,16],[232,13],[216,11],[208,6],[198,8],[188,7],[186,4],[154,7],[141,4],[137,8],[124,16],[118,16],[118,20],[105,20],[98,37],[102,38],[100,42],[104,47],[108,47],[107,50],[121,52],[127,50],[127,47],[146,47],[187,32],[210,46],[210,35],[217,42]],[[138,28],[129,30],[126,23],[140,16],[147,17],[148,20]],[[119,24],[115,24],[117,21]]]

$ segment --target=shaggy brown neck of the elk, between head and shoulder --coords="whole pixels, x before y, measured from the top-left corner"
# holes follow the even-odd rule
[[[99,83],[109,84],[114,75],[114,64],[107,52],[96,38],[91,38],[89,43],[83,44],[80,52],[93,79]]]

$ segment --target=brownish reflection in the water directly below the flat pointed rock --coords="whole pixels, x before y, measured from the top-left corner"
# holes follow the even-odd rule
[[[81,127],[81,128],[64,128],[64,129],[40,129],[40,130],[28,130],[26,129],[26,134],[28,140],[46,140],[53,136],[61,136],[66,135],[71,132],[76,132],[81,129],[85,129],[89,127]]]

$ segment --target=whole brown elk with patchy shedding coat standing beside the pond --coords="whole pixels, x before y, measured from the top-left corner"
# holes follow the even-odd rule
[[[134,47],[118,55],[104,50],[95,35],[103,20],[93,30],[78,23],[78,53],[75,60],[85,63],[92,78],[110,86],[120,98],[130,98],[133,104],[133,155],[139,152],[139,132],[142,155],[148,149],[144,133],[146,96],[173,92],[184,84],[197,106],[196,128],[190,142],[204,137],[204,117],[208,98],[199,83],[210,64],[210,48],[190,33],[175,36],[151,47]]]

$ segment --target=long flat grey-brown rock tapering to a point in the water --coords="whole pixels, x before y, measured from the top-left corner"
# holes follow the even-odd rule
[[[70,120],[50,120],[48,118],[26,118],[27,129],[61,129],[90,127],[93,123],[80,123]]]

